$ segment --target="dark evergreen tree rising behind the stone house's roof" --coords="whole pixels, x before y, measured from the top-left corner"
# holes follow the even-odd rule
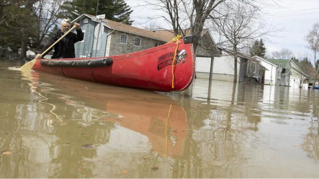
[[[63,18],[74,20],[82,14],[101,15],[105,14],[105,19],[132,25],[130,15],[133,12],[124,0],[73,0],[63,4]]]

